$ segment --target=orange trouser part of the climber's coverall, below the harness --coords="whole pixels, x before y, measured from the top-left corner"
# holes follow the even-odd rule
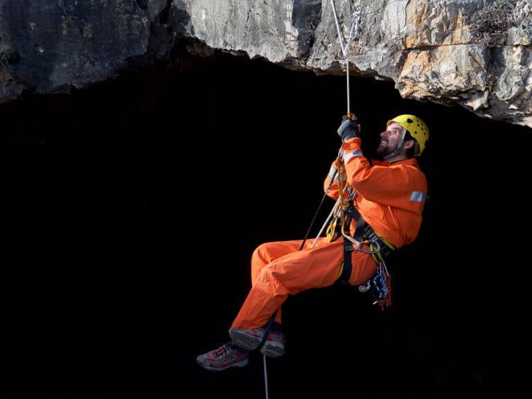
[[[288,295],[328,287],[337,280],[344,260],[342,239],[327,242],[319,238],[314,245],[301,240],[266,242],[259,245],[251,256],[251,290],[231,328],[258,328],[269,321],[278,310],[276,321],[281,323],[281,304]],[[376,271],[375,260],[369,254],[352,254],[353,272],[349,283],[365,283]]]

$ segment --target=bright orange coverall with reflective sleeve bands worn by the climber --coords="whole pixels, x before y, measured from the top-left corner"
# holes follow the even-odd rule
[[[346,184],[357,192],[353,205],[375,233],[398,249],[418,235],[427,179],[414,158],[394,163],[374,160],[372,165],[360,144],[358,137],[342,143]],[[323,184],[332,199],[339,196],[336,169],[332,163]],[[353,220],[351,233],[355,225]],[[305,242],[301,251],[302,240],[265,242],[254,250],[251,290],[231,328],[263,327],[276,310],[275,321],[281,323],[281,304],[288,295],[335,283],[344,260],[343,239],[328,242],[327,237],[319,237],[311,247],[313,241]],[[377,272],[373,256],[363,251],[352,251],[351,263],[351,285],[366,283]]]

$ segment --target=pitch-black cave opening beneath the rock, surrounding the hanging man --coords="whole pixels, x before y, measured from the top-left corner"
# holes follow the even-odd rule
[[[351,78],[366,153],[389,118],[429,126],[418,240],[392,306],[291,296],[269,398],[506,398],[524,352],[531,131]],[[267,240],[330,211],[346,77],[187,57],[0,105],[2,398],[264,398],[263,358],[204,371]],[[516,312],[517,310],[517,312]]]

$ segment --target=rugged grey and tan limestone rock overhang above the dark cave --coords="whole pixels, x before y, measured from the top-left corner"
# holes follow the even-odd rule
[[[532,127],[531,0],[3,0],[0,99],[218,49]]]

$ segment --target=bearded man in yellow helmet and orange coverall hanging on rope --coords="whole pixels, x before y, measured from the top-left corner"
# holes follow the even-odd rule
[[[314,242],[266,242],[251,256],[251,290],[229,329],[231,342],[197,357],[210,371],[242,367],[249,351],[269,357],[285,351],[281,305],[288,295],[328,287],[338,280],[351,285],[382,276],[384,256],[414,241],[427,197],[427,179],[418,157],[429,139],[427,125],[404,114],[387,122],[370,163],[361,149],[360,126],[347,116],[337,130],[339,157],[324,182],[337,199],[335,219],[326,237]],[[338,240],[342,236],[342,240]],[[387,298],[380,287],[378,301]]]

